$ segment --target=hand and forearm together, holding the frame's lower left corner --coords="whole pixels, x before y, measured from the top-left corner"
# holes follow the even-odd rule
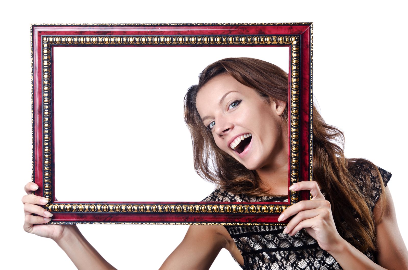
[[[38,186],[29,182],[22,197],[24,204],[24,230],[26,232],[53,239],[64,250],[78,269],[115,269],[86,241],[75,225],[44,224],[51,221],[52,214],[40,205],[48,203],[44,197],[32,194]],[[32,214],[36,214],[34,216]]]

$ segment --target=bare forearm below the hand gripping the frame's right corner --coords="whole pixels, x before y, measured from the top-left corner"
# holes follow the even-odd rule
[[[328,250],[328,253],[336,259],[344,270],[348,269],[386,269],[379,266],[364,255],[361,251],[348,243],[346,240],[342,240],[334,250]]]

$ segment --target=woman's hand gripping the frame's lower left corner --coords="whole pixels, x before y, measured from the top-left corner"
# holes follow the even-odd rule
[[[47,237],[54,241],[58,241],[64,235],[64,230],[75,225],[62,226],[44,224],[51,220],[52,214],[42,207],[48,203],[47,199],[31,193],[37,189],[37,184],[31,181],[24,186],[24,190],[27,193],[27,195],[24,195],[21,199],[24,204],[24,230],[41,237]],[[33,216],[33,213],[38,216]]]

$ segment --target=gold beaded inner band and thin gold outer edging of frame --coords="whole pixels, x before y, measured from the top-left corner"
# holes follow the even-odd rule
[[[183,25],[311,25],[310,35],[310,85],[312,86],[313,75],[313,23],[231,23],[231,24],[31,24],[31,142],[32,142],[32,180],[34,179],[34,123],[33,123],[33,26],[183,26]],[[64,35],[42,36],[42,113],[43,113],[43,179],[44,197],[51,202],[51,46],[52,45],[223,45],[238,44],[290,44],[291,82],[290,82],[290,182],[299,181],[299,88],[300,88],[300,35]],[[312,119],[313,93],[310,87],[310,120]],[[310,151],[309,169],[312,180],[312,121],[310,121]],[[311,196],[310,196],[311,197]],[[290,205],[299,201],[299,192],[290,192]],[[239,204],[47,204],[50,212],[109,212],[109,213],[271,213],[278,214],[285,210],[288,205],[239,205]],[[178,222],[77,222],[70,224],[230,224],[230,223],[178,223]],[[51,222],[51,224],[67,224],[67,222]],[[261,225],[259,223],[231,223],[236,225]],[[270,224],[270,223],[268,223]]]

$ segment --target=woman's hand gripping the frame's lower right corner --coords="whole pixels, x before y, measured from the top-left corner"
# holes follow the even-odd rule
[[[299,201],[282,212],[278,221],[297,214],[289,221],[283,233],[293,236],[296,232],[305,228],[308,234],[316,239],[320,248],[326,251],[333,250],[341,241],[344,241],[337,232],[330,202],[324,198],[316,181],[300,181],[293,184],[289,189],[310,190],[313,197],[311,200]]]

